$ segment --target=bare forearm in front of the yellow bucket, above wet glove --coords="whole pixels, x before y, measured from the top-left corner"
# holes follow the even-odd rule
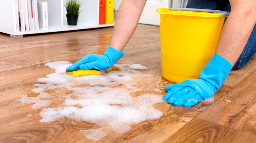
[[[230,5],[215,53],[234,66],[256,23],[256,0],[230,0]]]

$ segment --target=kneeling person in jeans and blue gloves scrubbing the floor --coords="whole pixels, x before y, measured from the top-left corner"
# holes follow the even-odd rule
[[[121,52],[133,35],[146,0],[123,0],[118,9],[113,34],[103,55],[89,54],[67,68],[104,70],[123,55]],[[189,0],[186,8],[230,12],[225,20],[215,54],[198,79],[189,79],[165,87],[163,96],[169,104],[193,106],[213,96],[231,69],[243,67],[256,52],[256,0]]]

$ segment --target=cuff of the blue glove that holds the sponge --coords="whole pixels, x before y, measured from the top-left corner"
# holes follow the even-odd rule
[[[113,47],[108,47],[103,55],[109,58],[112,66],[124,55],[124,52],[120,52]]]

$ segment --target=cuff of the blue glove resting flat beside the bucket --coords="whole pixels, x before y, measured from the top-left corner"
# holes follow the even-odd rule
[[[232,65],[227,60],[214,54],[198,78],[210,83],[217,92],[226,80],[231,69]]]

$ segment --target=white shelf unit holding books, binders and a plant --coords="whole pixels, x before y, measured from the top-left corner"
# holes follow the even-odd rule
[[[14,0],[0,0],[0,32],[10,34],[11,38],[22,38],[26,34],[49,33],[114,26],[114,24],[99,23],[99,0],[79,0],[82,4],[78,23],[75,26],[67,24],[66,0],[38,0],[48,3],[48,30],[17,31]]]

